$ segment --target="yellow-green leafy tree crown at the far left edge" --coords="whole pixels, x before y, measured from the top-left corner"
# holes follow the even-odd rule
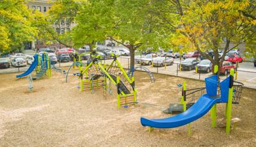
[[[24,42],[35,40],[38,29],[33,26],[35,15],[24,0],[3,0],[0,3],[0,51],[20,49]]]

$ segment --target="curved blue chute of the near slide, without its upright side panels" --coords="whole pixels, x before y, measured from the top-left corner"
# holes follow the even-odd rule
[[[170,118],[163,119],[147,119],[141,118],[141,125],[154,127],[154,128],[175,128],[180,127],[182,125],[186,125],[191,123],[192,121],[197,120],[204,116],[208,111],[210,111],[211,107],[220,102],[221,98],[211,98],[209,95],[202,95],[198,101],[190,107],[187,111],[177,114],[176,116],[172,116]]]

